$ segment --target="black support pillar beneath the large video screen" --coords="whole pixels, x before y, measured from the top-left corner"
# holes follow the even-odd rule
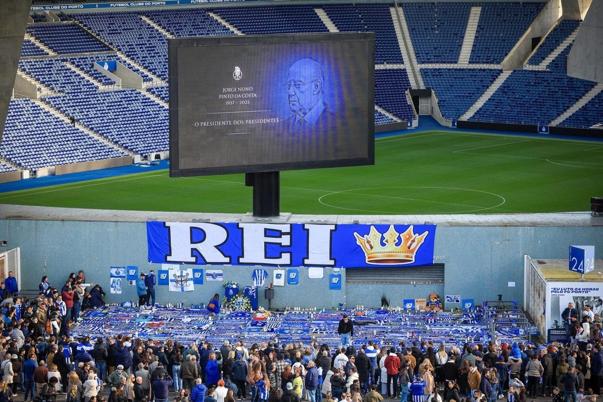
[[[253,185],[253,216],[273,218],[280,215],[280,172],[250,173]],[[247,180],[246,180],[247,181]]]

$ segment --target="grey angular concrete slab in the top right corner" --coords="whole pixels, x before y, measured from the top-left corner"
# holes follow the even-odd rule
[[[603,3],[593,2],[567,57],[567,75],[603,83]]]

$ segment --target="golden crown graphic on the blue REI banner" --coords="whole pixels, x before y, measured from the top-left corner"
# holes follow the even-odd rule
[[[354,237],[364,251],[368,264],[399,265],[414,262],[415,254],[428,234],[428,230],[421,234],[414,233],[410,225],[400,239],[400,233],[396,231],[394,225],[390,225],[385,232],[385,238],[382,239],[384,236],[371,225],[371,230],[364,237],[357,232],[354,232]]]

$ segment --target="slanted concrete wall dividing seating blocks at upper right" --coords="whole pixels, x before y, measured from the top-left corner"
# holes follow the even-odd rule
[[[575,1],[575,0],[574,0]],[[532,38],[544,36],[554,27],[558,19],[563,14],[561,0],[551,0],[540,11],[532,25],[523,36],[517,41],[516,45],[511,49],[507,57],[502,61],[502,69],[509,71],[519,66],[522,66],[528,55],[532,52]]]

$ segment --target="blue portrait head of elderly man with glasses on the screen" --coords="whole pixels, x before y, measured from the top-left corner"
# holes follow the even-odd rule
[[[289,131],[303,130],[325,124],[332,118],[324,102],[324,71],[317,61],[302,58],[289,68],[285,90],[292,115],[286,119]]]

